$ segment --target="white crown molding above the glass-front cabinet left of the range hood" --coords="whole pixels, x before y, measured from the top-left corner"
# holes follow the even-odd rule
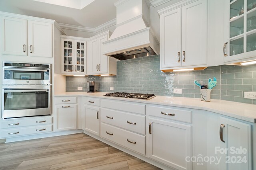
[[[103,23],[102,25],[99,25],[98,27],[95,28],[90,28],[90,27],[82,27],[82,26],[76,26],[76,25],[69,25],[65,23],[58,23],[62,29],[71,29],[75,31],[83,31],[83,32],[90,32],[90,33],[97,33],[99,31],[102,31],[108,27],[111,27],[113,25],[116,25],[116,18],[113,20],[110,20],[106,23]]]

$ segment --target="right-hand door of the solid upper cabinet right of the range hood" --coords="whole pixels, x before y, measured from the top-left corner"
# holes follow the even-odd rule
[[[182,7],[182,66],[207,64],[207,1]]]

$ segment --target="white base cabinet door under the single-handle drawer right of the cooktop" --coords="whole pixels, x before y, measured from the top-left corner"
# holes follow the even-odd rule
[[[151,124],[151,125],[150,125]],[[178,170],[191,170],[192,126],[148,118],[148,156]]]

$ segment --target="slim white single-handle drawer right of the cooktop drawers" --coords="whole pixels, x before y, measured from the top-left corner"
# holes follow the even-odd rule
[[[147,114],[150,116],[192,123],[192,111],[188,110],[161,106],[147,106]]]

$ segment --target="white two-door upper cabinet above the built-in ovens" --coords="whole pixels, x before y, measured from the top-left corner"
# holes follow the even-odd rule
[[[32,57],[52,57],[53,20],[27,20],[0,16],[1,53]]]

